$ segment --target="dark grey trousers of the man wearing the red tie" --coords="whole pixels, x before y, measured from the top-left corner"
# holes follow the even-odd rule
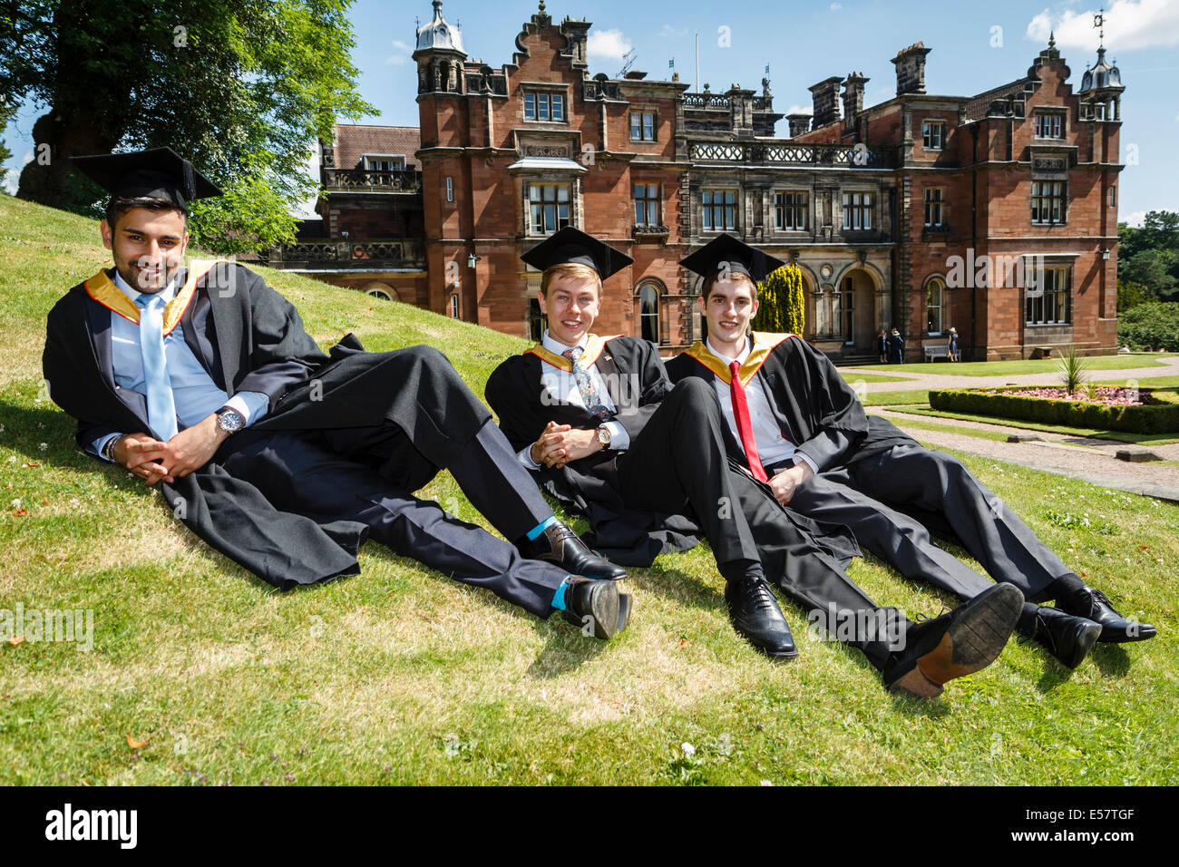
[[[895,446],[849,467],[819,473],[798,487],[790,506],[816,520],[847,524],[862,546],[905,578],[928,582],[962,599],[994,585],[934,545],[926,526],[900,510],[915,507],[941,515],[995,580],[1014,584],[1026,598],[1069,573],[962,461],[921,446]]]

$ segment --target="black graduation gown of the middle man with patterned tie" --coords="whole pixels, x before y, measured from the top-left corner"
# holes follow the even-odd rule
[[[532,350],[506,359],[483,392],[516,451],[535,442],[549,421],[575,428],[599,423],[585,407],[561,403],[542,392],[542,363]],[[645,340],[610,337],[595,363],[614,402],[614,420],[630,436],[638,436],[671,390],[658,352]],[[594,532],[587,543],[619,565],[650,566],[661,553],[697,545],[702,531],[691,517],[627,508],[619,493],[617,458],[617,452],[597,452],[564,467],[541,467],[533,475],[566,508],[590,519]]]

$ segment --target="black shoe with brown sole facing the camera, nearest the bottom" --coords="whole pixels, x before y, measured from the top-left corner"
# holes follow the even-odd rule
[[[884,685],[918,698],[941,695],[947,681],[981,671],[999,658],[1022,607],[1019,587],[996,584],[941,617],[910,626],[904,649],[894,651],[884,666]]]

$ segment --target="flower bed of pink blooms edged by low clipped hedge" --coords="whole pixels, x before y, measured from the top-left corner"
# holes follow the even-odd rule
[[[1060,387],[942,388],[929,393],[934,409],[1021,419],[1048,425],[1092,427],[1131,433],[1179,431],[1179,398],[1174,390],[1144,388],[1137,393],[1094,386],[1066,395]]]

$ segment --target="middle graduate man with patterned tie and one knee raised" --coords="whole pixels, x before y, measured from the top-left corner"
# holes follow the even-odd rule
[[[672,388],[651,343],[590,333],[601,282],[630,257],[564,229],[523,258],[544,271],[540,301],[548,330],[540,344],[495,369],[487,400],[520,449],[520,462],[590,517],[599,546],[608,536],[632,546],[631,561],[648,565],[656,554],[681,547],[680,537],[657,536],[661,527],[698,524],[726,579],[733,625],[777,659],[797,656],[797,648],[766,576],[887,670],[885,682],[898,691],[935,695],[946,681],[989,662],[986,653],[955,658],[930,628],[910,633],[913,624],[898,612],[874,605],[841,565],[858,553],[855,545],[782,507],[730,460],[711,386],[690,381]],[[619,524],[651,536],[627,537]],[[608,550],[621,559],[623,552]],[[960,619],[986,631],[993,618],[980,605]],[[1002,624],[993,632],[997,648],[990,650],[997,653],[1006,641]],[[913,641],[905,644],[905,637]]]

